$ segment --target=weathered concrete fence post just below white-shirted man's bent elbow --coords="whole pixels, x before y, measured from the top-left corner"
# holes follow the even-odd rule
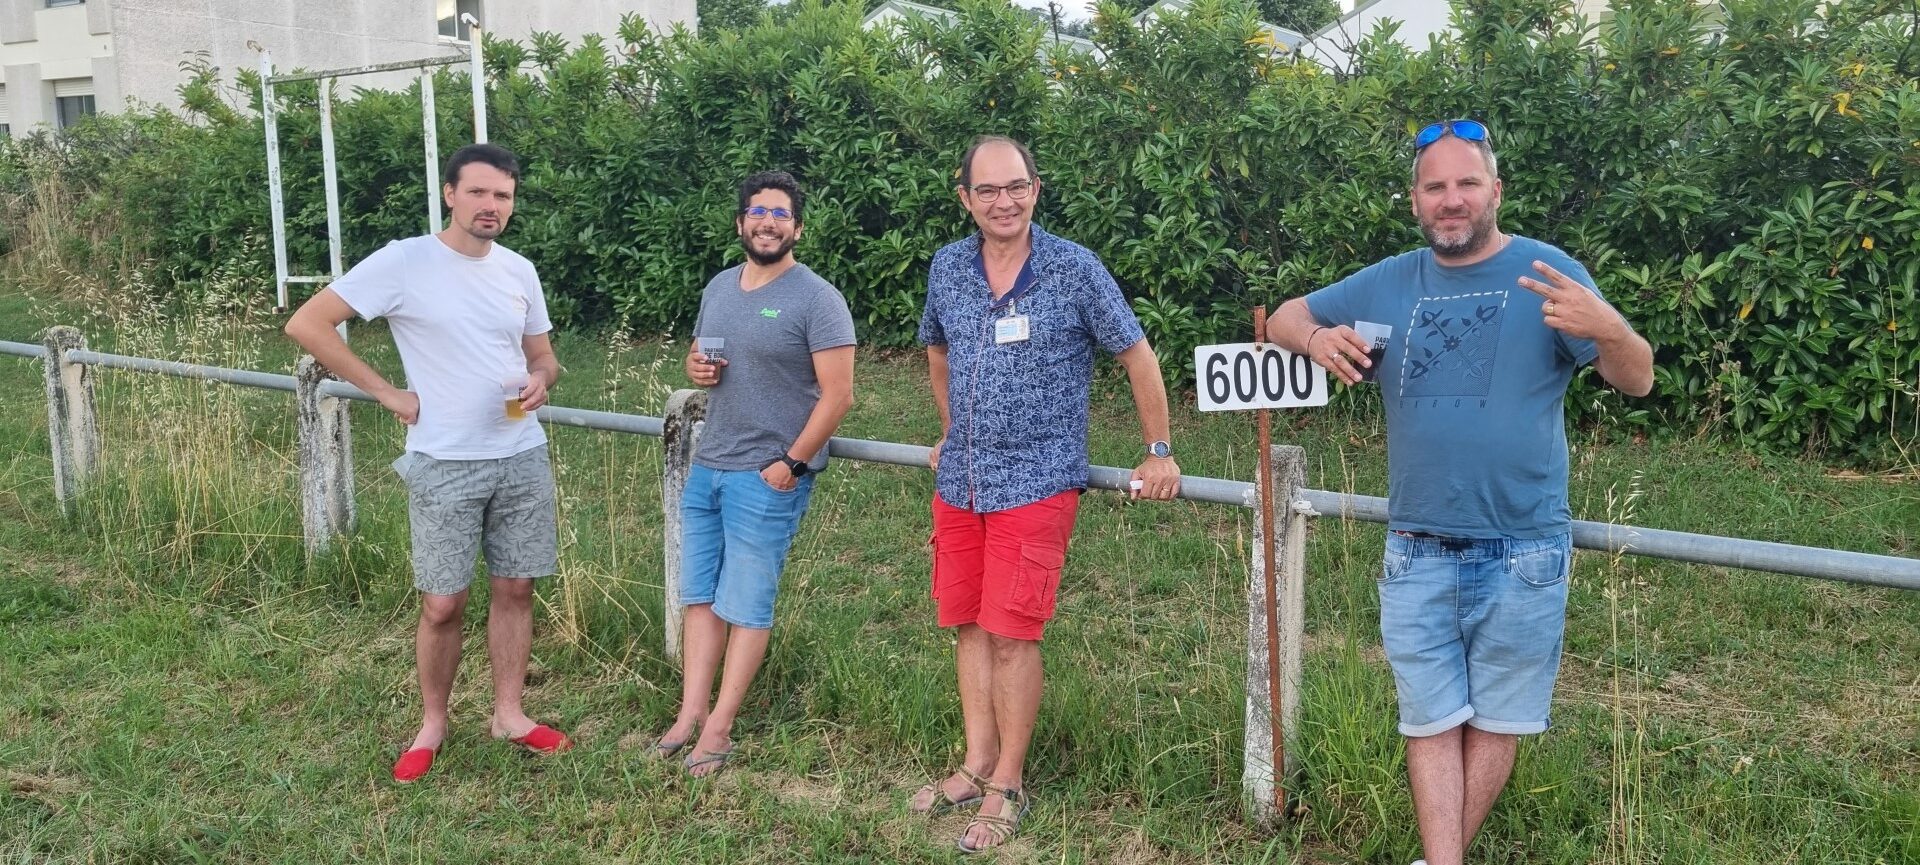
[[[326,552],[334,535],[353,531],[353,426],[348,401],[321,391],[332,372],[313,355],[294,368],[300,420],[300,529],[307,552]]]

